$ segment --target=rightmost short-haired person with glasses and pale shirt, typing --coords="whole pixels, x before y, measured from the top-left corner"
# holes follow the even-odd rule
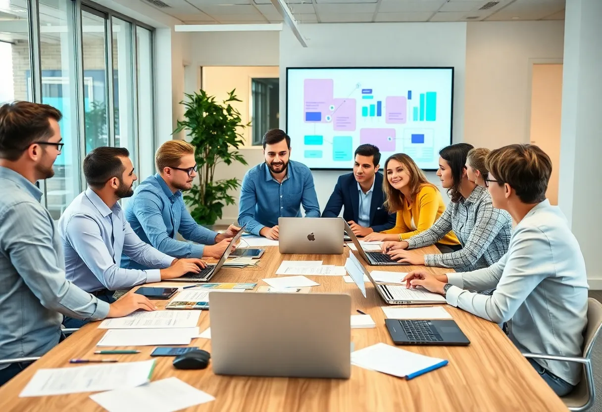
[[[565,216],[545,198],[550,157],[538,146],[510,145],[487,155],[485,179],[494,207],[516,223],[508,252],[495,264],[464,273],[406,276],[445,296],[447,303],[495,323],[510,323],[509,337],[521,352],[581,357],[587,324],[588,281],[579,243]],[[495,288],[491,296],[471,290]],[[557,395],[573,390],[580,363],[529,358]]]

